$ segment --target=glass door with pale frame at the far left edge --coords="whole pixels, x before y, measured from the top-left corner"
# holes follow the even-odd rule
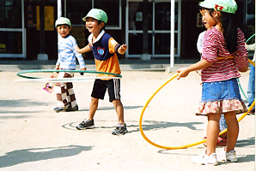
[[[0,1],[0,57],[26,57],[24,0]]]

